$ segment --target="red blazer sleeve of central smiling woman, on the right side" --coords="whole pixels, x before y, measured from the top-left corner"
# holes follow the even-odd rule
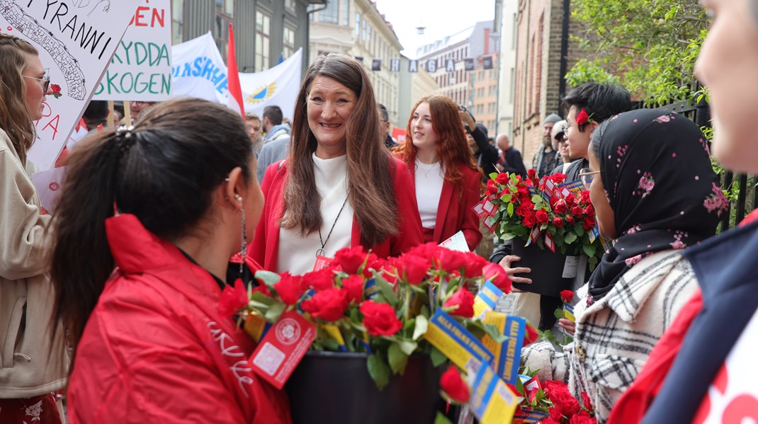
[[[421,216],[418,214],[416,192],[408,167],[402,161],[394,159],[396,164],[395,198],[399,233],[390,238],[390,256],[399,256],[414,246],[424,242],[421,233]]]

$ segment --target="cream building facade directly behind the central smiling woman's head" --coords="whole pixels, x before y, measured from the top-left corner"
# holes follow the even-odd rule
[[[387,107],[390,123],[401,126],[406,117],[399,113],[400,72],[392,66],[393,59],[399,65],[402,45],[392,24],[369,0],[330,0],[310,10],[309,63],[327,52],[362,60],[377,102]]]

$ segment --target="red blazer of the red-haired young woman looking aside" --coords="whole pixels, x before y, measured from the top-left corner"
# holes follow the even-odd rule
[[[449,181],[443,182],[432,242],[439,245],[456,232],[463,231],[468,248],[474,251],[482,237],[479,217],[474,211],[474,206],[481,201],[481,173],[465,164],[460,164],[459,168],[463,175],[463,192],[456,192]],[[411,178],[415,191],[415,173],[411,173]]]

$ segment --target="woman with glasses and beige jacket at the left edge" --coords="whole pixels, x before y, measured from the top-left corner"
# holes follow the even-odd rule
[[[66,384],[67,359],[60,332],[51,337],[50,216],[27,173],[49,86],[36,48],[0,34],[0,422],[62,419],[52,391]]]

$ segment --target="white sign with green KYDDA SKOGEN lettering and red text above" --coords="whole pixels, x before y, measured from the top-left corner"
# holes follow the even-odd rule
[[[94,100],[163,101],[171,92],[171,0],[144,0]]]

